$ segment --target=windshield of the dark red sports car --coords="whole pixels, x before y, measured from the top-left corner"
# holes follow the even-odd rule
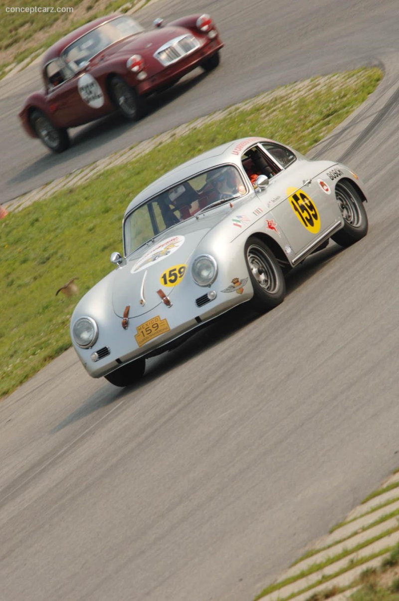
[[[123,16],[112,19],[96,27],[62,50],[65,63],[76,73],[90,61],[93,56],[102,52],[115,41],[123,40],[129,35],[144,31],[142,26],[130,17]]]

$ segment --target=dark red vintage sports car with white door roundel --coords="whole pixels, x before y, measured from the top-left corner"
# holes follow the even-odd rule
[[[208,14],[195,14],[144,31],[113,14],[87,23],[47,50],[44,90],[31,94],[19,114],[23,127],[50,150],[69,147],[67,129],[118,110],[130,120],[145,112],[145,97],[201,66],[219,64],[223,46]]]

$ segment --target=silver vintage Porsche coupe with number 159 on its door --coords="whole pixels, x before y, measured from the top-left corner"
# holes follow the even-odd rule
[[[127,386],[145,359],[248,302],[284,300],[285,273],[329,239],[367,234],[364,187],[341,163],[308,160],[266,138],[228,142],[160,177],[123,218],[123,255],[73,312],[92,377]]]

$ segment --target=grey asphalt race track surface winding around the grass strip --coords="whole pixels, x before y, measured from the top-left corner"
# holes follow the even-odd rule
[[[194,8],[159,0],[142,20]],[[397,1],[200,9],[220,24],[220,69],[138,126],[92,126],[52,158],[7,129],[22,87],[2,99],[5,189],[276,85],[380,63],[373,100],[316,151],[364,179],[370,231],[312,255],[266,316],[243,307],[151,359],[138,386],[91,380],[70,350],[0,404],[1,601],[250,600],[399,466]]]

